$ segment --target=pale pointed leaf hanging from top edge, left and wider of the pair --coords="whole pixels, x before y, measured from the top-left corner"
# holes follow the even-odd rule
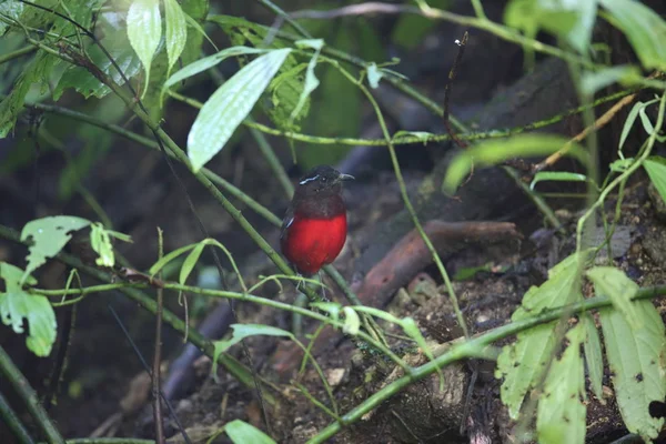
[[[128,10],[128,38],[145,71],[145,88],[150,80],[150,64],[162,39],[162,16],[159,0],[134,0]]]

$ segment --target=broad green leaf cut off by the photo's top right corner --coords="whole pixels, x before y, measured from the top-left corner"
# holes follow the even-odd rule
[[[584,3],[584,2],[582,2]],[[599,0],[646,69],[666,70],[666,22],[635,0]]]

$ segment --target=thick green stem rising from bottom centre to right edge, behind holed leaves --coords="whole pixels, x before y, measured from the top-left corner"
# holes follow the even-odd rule
[[[666,294],[666,285],[659,285],[654,287],[640,289],[634,296],[634,300],[654,299]],[[349,413],[342,416],[342,421],[334,422],[320,432],[316,436],[311,438],[309,444],[323,443],[326,440],[335,435],[343,426],[353,424],[361,420],[361,417],[372,410],[379,407],[382,403],[389,400],[391,396],[400,393],[407,385],[412,384],[414,380],[422,380],[456,361],[461,361],[470,357],[477,357],[480,352],[492,343],[503,340],[508,336],[513,336],[525,330],[534,327],[536,325],[545,324],[552,321],[556,321],[562,317],[565,313],[583,313],[589,310],[597,310],[605,306],[610,306],[612,302],[606,296],[595,296],[585,301],[562,306],[558,309],[549,310],[541,313],[534,317],[514,321],[511,324],[500,326],[494,330],[484,332],[468,341],[457,343],[453,345],[448,351],[437,356],[435,360],[423,364],[416,369],[412,375],[403,376],[391,384],[383,387],[381,391],[374,393],[367,400],[359,404],[356,407],[351,410]],[[456,341],[454,341],[456,342]]]

